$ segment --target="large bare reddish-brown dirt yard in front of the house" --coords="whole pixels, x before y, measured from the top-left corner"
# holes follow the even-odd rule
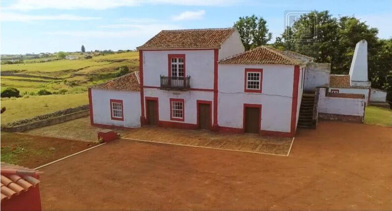
[[[322,121],[289,157],[120,140],[42,168],[43,210],[391,210],[392,128]]]

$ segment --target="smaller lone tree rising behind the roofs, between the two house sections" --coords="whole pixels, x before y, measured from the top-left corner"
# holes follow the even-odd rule
[[[272,38],[272,33],[267,28],[267,21],[262,17],[256,17],[255,15],[240,17],[234,23],[234,27],[240,33],[245,50],[266,45]]]

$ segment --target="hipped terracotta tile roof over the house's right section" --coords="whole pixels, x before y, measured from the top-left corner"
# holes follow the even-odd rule
[[[302,61],[284,55],[281,51],[270,47],[256,47],[252,50],[222,59],[220,64],[282,64],[300,65]]]

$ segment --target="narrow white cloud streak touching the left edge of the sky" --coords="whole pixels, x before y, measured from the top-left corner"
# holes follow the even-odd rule
[[[31,21],[41,21],[41,20],[63,20],[63,21],[88,21],[88,20],[98,20],[99,17],[83,17],[74,15],[50,15],[50,16],[35,16],[35,15],[23,15],[17,13],[1,13],[1,21],[18,21],[18,22],[31,22]]]

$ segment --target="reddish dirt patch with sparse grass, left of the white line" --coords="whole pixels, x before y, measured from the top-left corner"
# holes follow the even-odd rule
[[[94,145],[96,143],[1,133],[1,161],[35,168]]]

